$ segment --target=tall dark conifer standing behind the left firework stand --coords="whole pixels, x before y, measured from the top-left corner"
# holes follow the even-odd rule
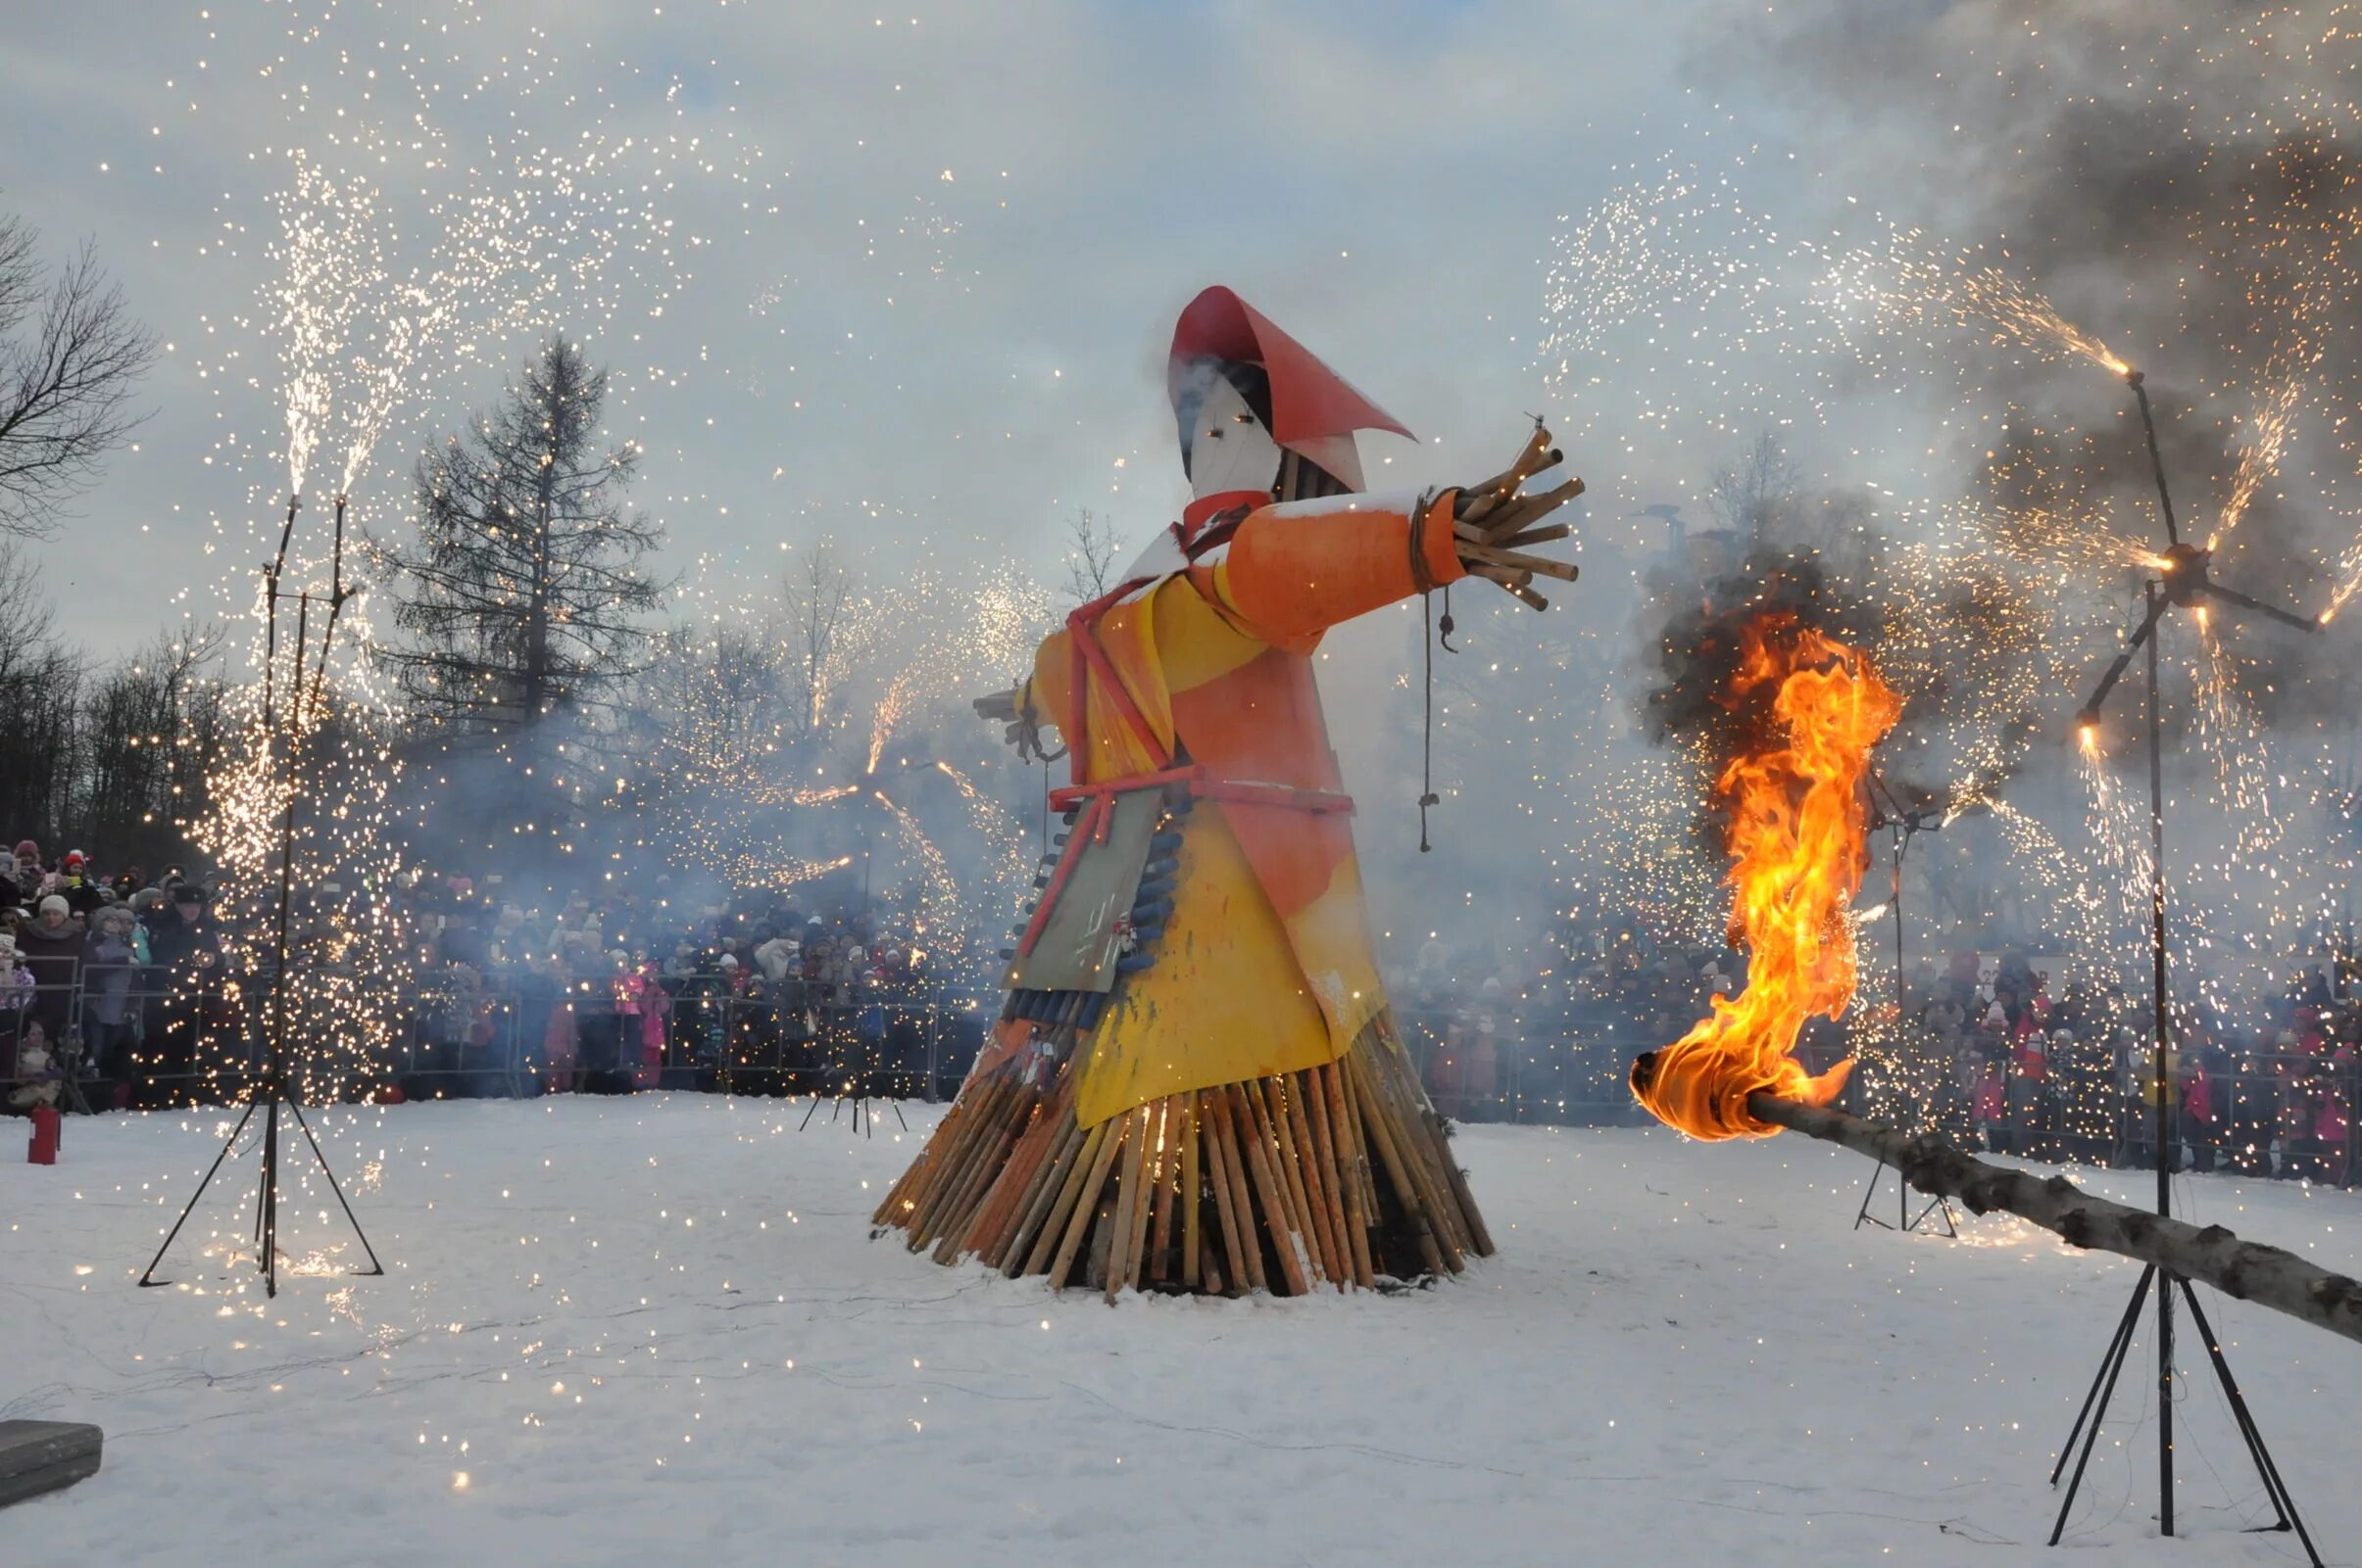
[[[463,732],[536,730],[633,675],[664,583],[640,569],[664,531],[616,503],[633,446],[600,446],[607,373],[550,338],[501,406],[418,460],[418,543],[392,649],[413,711]]]

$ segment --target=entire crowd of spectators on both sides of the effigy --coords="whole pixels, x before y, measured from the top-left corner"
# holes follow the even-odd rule
[[[843,890],[718,893],[671,876],[520,897],[498,878],[413,876],[406,1037],[380,1096],[947,1089],[992,997],[952,987],[893,902]],[[0,869],[0,1086],[12,1110],[154,1108],[208,1091],[208,1039],[250,1037],[227,999],[205,888],[165,867],[102,871],[26,841]],[[2336,978],[2331,978],[2331,973]],[[2159,1086],[2147,1006],[2114,980],[2053,987],[2020,949],[1923,963],[1894,1004],[1816,1020],[1809,1070],[1866,1044],[1857,1093],[2003,1155],[2350,1183],[2362,985],[2310,966],[2234,1023],[2178,1020]],[[1389,973],[1396,1020],[1455,1119],[1630,1119],[1637,1051],[1679,1039],[1746,985],[1729,947],[1646,923],[1564,923],[1526,947],[1429,933]],[[255,992],[248,989],[248,997]],[[12,1070],[9,1070],[12,1067]]]

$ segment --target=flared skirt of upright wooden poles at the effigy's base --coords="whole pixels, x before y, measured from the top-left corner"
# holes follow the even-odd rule
[[[1075,1122],[1065,1056],[1046,1084],[971,1074],[872,1216],[938,1263],[978,1259],[1115,1301],[1377,1289],[1460,1273],[1493,1237],[1391,1025],[1301,1072]]]

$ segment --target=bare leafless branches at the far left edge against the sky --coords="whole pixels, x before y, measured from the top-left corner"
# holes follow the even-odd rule
[[[0,213],[0,534],[31,538],[139,423],[132,383],[156,357],[92,246],[52,281],[38,241]]]

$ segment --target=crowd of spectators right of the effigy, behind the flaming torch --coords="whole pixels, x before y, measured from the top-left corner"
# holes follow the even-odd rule
[[[2053,987],[2050,968],[2015,947],[1949,954],[1913,971],[1901,1030],[1894,1001],[1866,994],[1845,1023],[1807,1023],[1797,1056],[1819,1072],[1859,1051],[1849,1093],[1871,1115],[2003,1155],[2154,1169],[2147,992],[2093,978]],[[2350,963],[2312,963],[2237,1015],[2201,1004],[2175,1020],[2164,1136],[2178,1169],[2362,1181],[2355,980]],[[1741,987],[1746,954],[1604,919],[1568,921],[1526,952],[1436,933],[1389,975],[1429,1096],[1472,1122],[1632,1119],[1632,1058]]]

